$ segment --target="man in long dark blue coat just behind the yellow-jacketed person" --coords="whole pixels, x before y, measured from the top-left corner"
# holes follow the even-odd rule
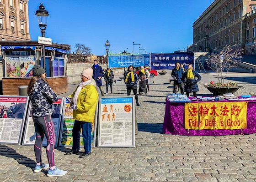
[[[103,91],[102,82],[101,82],[101,78],[104,76],[102,67],[98,65],[97,60],[94,60],[94,65],[91,66],[91,68],[93,70],[92,78],[96,81],[96,85],[99,87],[101,91],[101,96],[104,96],[104,91]]]

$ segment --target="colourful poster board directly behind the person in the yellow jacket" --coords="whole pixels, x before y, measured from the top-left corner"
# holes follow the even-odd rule
[[[61,130],[60,130],[60,139],[59,139],[59,146],[72,146],[73,144],[73,137],[72,137],[72,129],[75,123],[73,119],[73,109],[70,109],[70,99],[65,98],[64,109],[63,109],[63,121],[61,123]],[[91,147],[95,147],[96,142],[96,126],[97,126],[97,110],[98,104],[96,106],[96,113],[94,122],[92,122],[91,126]],[[80,147],[84,146],[83,137],[82,137],[82,129],[80,133]]]

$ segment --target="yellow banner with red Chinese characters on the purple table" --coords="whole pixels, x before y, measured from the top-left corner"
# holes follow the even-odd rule
[[[247,102],[197,102],[185,104],[185,129],[246,128]]]

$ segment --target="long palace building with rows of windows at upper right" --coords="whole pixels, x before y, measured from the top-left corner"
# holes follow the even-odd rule
[[[193,24],[193,51],[213,51],[236,44],[256,54],[256,0],[214,0]]]

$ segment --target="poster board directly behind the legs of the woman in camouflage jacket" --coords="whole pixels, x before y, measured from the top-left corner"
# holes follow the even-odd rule
[[[62,120],[62,106],[63,106],[64,98],[59,98],[58,101],[53,103],[53,114],[52,114],[52,121],[54,125],[54,133],[55,133],[55,142],[54,146],[57,147],[58,139],[59,139],[59,128],[60,122]],[[29,103],[29,116],[27,117],[26,127],[25,127],[25,134],[23,137],[22,145],[34,145],[36,141],[36,132],[34,121],[32,118],[32,108],[31,102]],[[46,137],[43,138],[42,146],[47,146]]]

